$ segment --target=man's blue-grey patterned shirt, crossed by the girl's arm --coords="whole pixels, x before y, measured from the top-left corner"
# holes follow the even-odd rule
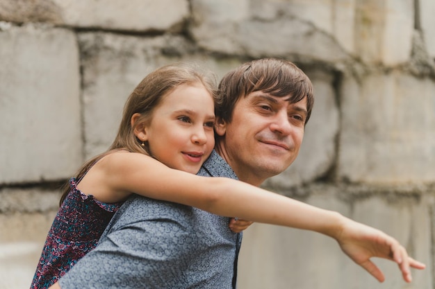
[[[214,150],[198,175],[237,178]],[[60,287],[235,288],[241,234],[228,223],[200,209],[134,195]]]

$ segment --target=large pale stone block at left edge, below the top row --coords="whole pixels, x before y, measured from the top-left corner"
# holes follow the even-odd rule
[[[9,26],[0,43],[0,184],[71,175],[82,162],[74,33]]]

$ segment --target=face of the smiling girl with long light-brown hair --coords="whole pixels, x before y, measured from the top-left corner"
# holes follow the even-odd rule
[[[145,125],[150,154],[170,168],[197,173],[215,146],[214,108],[200,82],[180,85],[163,96]]]

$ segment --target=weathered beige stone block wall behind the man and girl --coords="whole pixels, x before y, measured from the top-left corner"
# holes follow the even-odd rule
[[[110,145],[150,71],[245,60],[306,71],[315,107],[295,164],[264,186],[391,234],[427,264],[377,283],[309,231],[245,231],[238,288],[434,284],[433,0],[0,0],[0,288],[28,288],[58,185]],[[432,28],[431,28],[432,27]]]

